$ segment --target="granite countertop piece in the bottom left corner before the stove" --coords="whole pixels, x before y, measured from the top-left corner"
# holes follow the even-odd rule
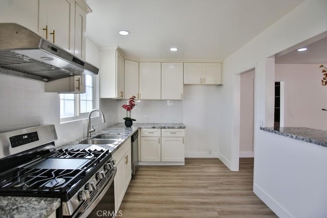
[[[0,196],[0,217],[49,217],[60,207],[57,198]]]

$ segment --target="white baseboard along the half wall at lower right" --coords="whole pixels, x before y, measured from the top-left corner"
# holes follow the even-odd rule
[[[260,188],[257,184],[253,184],[253,192],[263,201],[278,217],[294,218],[282,205],[278,204],[271,196]]]

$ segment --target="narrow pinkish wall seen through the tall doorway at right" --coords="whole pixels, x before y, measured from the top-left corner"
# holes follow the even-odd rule
[[[254,76],[250,71],[240,75],[240,157],[253,157]]]

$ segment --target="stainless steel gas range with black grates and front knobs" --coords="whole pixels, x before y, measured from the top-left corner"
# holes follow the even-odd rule
[[[0,195],[60,198],[57,216],[85,217],[116,172],[109,150],[55,149],[54,125],[0,133]]]

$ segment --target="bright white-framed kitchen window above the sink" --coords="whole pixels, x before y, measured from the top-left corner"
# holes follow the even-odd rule
[[[60,94],[60,122],[86,118],[94,108],[94,89],[91,75],[85,75],[85,93]]]

